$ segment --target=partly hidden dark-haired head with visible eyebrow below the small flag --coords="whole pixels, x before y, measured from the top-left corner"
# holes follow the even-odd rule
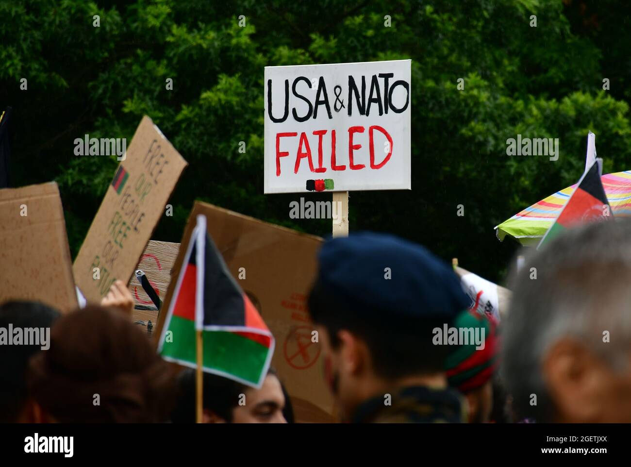
[[[195,370],[179,375],[179,400],[172,414],[174,423],[195,422]],[[203,423],[286,423],[289,401],[274,370],[270,369],[259,389],[223,376],[203,375]]]

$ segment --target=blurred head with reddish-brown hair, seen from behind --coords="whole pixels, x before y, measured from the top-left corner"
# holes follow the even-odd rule
[[[42,421],[62,423],[163,422],[175,389],[143,331],[95,305],[57,319],[50,349],[30,360],[27,381]]]

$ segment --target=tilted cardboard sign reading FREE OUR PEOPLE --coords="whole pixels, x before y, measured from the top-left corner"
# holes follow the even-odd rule
[[[100,302],[116,279],[129,283],[186,166],[143,117],[74,260],[74,280],[88,302]]]

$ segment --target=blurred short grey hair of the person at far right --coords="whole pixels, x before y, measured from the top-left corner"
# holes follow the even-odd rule
[[[534,250],[534,249],[533,249]],[[502,375],[521,417],[553,420],[541,362],[560,338],[580,340],[617,370],[631,343],[631,220],[573,228],[532,251],[510,278]],[[611,342],[604,342],[604,331]],[[537,405],[531,406],[531,394]]]

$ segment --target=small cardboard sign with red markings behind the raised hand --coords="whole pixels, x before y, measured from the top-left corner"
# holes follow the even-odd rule
[[[167,295],[167,288],[171,281],[171,269],[179,249],[179,243],[149,240],[138,264],[136,264],[136,268],[134,268],[134,271],[142,269],[160,300],[164,300]],[[134,321],[151,321],[153,324],[157,324],[158,309],[156,309],[151,299],[144,292],[135,275],[131,276],[127,288],[129,288],[129,292],[131,292],[134,302],[136,302],[136,308],[132,315]]]

